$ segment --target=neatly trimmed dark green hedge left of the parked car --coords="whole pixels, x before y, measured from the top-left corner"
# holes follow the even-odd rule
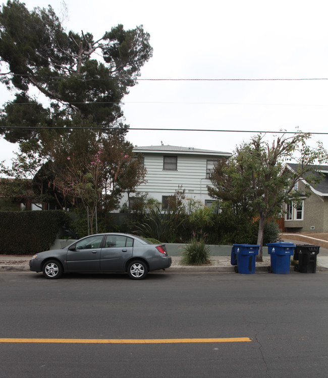
[[[47,250],[64,226],[64,211],[0,212],[0,255],[34,255]]]

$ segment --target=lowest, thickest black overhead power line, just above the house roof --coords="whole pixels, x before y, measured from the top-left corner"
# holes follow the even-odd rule
[[[102,127],[44,127],[44,126],[7,126],[2,128],[6,129],[32,129],[32,130],[102,130],[102,131],[130,131],[130,130],[147,130],[147,131],[197,131],[197,132],[214,132],[214,133],[261,133],[261,134],[306,134],[307,132],[302,131],[264,131],[264,130],[211,130],[211,129],[168,129],[168,128],[129,128],[129,129],[120,129],[120,128],[102,128]],[[328,135],[327,133],[322,132],[308,132],[308,134],[313,135]]]

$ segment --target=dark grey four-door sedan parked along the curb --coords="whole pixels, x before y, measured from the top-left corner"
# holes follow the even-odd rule
[[[30,260],[30,270],[43,272],[49,279],[63,273],[121,273],[141,280],[148,272],[166,269],[172,259],[165,244],[123,233],[103,233],[86,236],[62,249],[36,254]]]

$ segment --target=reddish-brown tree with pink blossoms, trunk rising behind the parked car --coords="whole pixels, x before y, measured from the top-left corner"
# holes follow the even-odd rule
[[[91,232],[94,219],[97,232],[98,205],[104,212],[117,209],[123,193],[144,181],[145,169],[135,159],[133,145],[120,134],[99,137],[92,130],[79,134],[59,136],[60,143],[49,150],[53,184],[73,203],[80,199],[90,215]]]

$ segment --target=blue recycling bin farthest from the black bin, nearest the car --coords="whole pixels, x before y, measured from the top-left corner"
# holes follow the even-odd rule
[[[258,255],[258,244],[233,244],[234,253],[237,257],[236,273],[253,274],[255,273],[255,259]]]

